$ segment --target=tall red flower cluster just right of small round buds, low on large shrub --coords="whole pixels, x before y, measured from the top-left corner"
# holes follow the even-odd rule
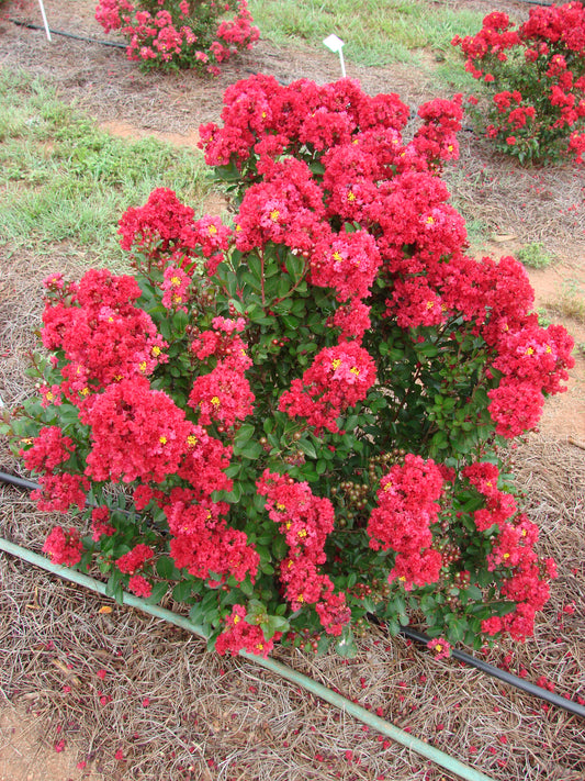
[[[373,550],[396,551],[389,582],[397,578],[409,590],[438,580],[442,559],[431,547],[429,526],[437,521],[442,483],[441,471],[431,459],[412,454],[380,481],[368,534]]]

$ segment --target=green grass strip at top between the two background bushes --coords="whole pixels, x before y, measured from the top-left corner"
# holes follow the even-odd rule
[[[425,0],[250,0],[249,8],[262,36],[275,44],[323,47],[335,33],[346,44],[344,57],[362,65],[413,63],[423,49],[446,63],[461,62],[451,40],[476,33],[483,19]]]

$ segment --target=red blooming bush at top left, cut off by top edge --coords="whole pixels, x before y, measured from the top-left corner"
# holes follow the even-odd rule
[[[216,76],[259,37],[247,0],[99,0],[95,19],[106,33],[120,30],[128,59],[145,70],[199,67]]]

